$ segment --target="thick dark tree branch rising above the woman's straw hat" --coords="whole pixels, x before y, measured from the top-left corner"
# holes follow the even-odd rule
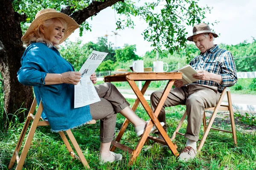
[[[87,18],[96,15],[99,11],[118,2],[124,2],[124,0],[103,0],[102,2],[93,0],[92,3],[83,10],[72,13],[73,9],[70,9],[70,6],[68,6],[67,8],[61,9],[61,12],[72,17],[80,25]]]

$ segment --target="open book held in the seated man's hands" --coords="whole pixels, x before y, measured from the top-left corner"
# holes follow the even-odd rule
[[[193,78],[193,74],[197,74],[198,72],[191,67],[191,65],[185,65],[184,67],[178,69],[178,70],[173,70],[170,72],[181,72],[182,73],[182,79],[179,79],[182,81],[185,85],[195,82],[198,79]]]

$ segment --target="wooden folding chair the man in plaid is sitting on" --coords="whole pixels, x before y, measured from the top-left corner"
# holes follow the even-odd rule
[[[223,101],[223,98],[224,98],[226,92],[227,92],[228,105],[221,105],[221,102]],[[223,91],[221,93],[221,96],[220,96],[220,99],[218,100],[218,103],[217,103],[217,105],[215,107],[206,108],[205,110],[211,110],[211,111],[213,111],[213,113],[212,113],[212,116],[211,116],[211,118],[209,120],[209,123],[207,125],[206,124],[205,111],[204,111],[204,115],[203,115],[204,135],[203,135],[202,139],[199,139],[200,143],[198,145],[198,151],[200,151],[201,148],[203,147],[204,142],[205,142],[205,140],[207,138],[207,135],[208,135],[210,129],[218,130],[218,131],[222,131],[222,132],[227,132],[227,133],[232,133],[234,143],[235,143],[235,145],[237,145],[237,141],[236,141],[236,126],[235,126],[235,121],[234,121],[233,107],[232,107],[231,94],[230,94],[229,88],[225,87],[223,89]],[[212,127],[212,123],[213,123],[213,121],[214,121],[218,111],[229,111],[229,113],[230,113],[230,121],[231,121],[231,130],[232,131],[222,130],[222,129],[217,129],[217,128],[213,128]],[[179,130],[180,130],[180,127],[181,127],[183,121],[185,120],[186,116],[187,116],[187,113],[185,111],[185,113],[183,114],[182,118],[180,119],[180,123],[178,124],[176,130],[174,131],[174,133],[172,135],[171,140],[175,139],[176,134],[184,136],[184,134],[180,133]]]

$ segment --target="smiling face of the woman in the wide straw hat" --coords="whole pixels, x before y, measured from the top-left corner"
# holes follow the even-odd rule
[[[55,20],[50,26],[42,26],[41,32],[44,34],[44,38],[52,42],[53,45],[58,45],[61,38],[64,35],[64,26],[61,21]]]

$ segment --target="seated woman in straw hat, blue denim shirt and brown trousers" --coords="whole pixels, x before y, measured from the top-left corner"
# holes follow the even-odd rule
[[[121,113],[133,125],[140,136],[147,124],[129,107],[129,103],[111,83],[95,85],[101,101],[81,108],[74,108],[74,85],[81,73],[61,57],[61,44],[79,25],[69,16],[55,9],[39,11],[21,40],[27,46],[21,58],[17,78],[23,85],[34,88],[37,101],[42,101],[42,118],[47,119],[51,130],[58,132],[86,124],[91,119],[100,120],[100,162],[122,159],[121,154],[111,152],[114,139],[116,113]],[[90,79],[96,84],[96,74]],[[161,122],[163,126],[163,122]],[[151,132],[156,127],[152,127]]]

